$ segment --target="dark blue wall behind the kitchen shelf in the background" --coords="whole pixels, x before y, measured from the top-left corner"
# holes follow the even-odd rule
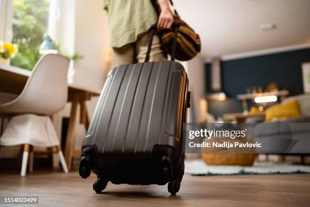
[[[301,63],[308,61],[310,49],[222,61],[222,89],[228,100],[209,102],[209,113],[218,117],[242,112],[237,95],[246,93],[250,86],[266,87],[276,82],[281,89],[289,90],[290,95],[303,93]],[[210,68],[210,64],[206,64],[206,91],[210,91]]]

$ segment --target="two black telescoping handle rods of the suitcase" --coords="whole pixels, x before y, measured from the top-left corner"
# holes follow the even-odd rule
[[[175,60],[175,53],[176,53],[176,41],[177,41],[177,34],[178,34],[178,29],[180,27],[180,23],[178,22],[173,22],[172,24],[172,28],[174,29],[174,36],[173,36],[173,45],[172,45],[172,53],[171,53],[171,60],[174,61]],[[151,33],[149,36],[149,41],[148,41],[148,46],[147,46],[147,52],[146,52],[146,56],[145,56],[145,60],[144,62],[148,62],[149,60],[149,53],[151,50],[151,46],[152,46],[152,42],[153,42],[153,37],[155,34],[155,31],[157,30],[157,25],[153,24],[150,27]]]

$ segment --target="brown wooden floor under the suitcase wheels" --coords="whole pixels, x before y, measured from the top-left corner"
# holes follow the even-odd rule
[[[25,178],[21,178],[18,172],[0,172],[0,195],[39,196],[39,204],[33,206],[309,206],[310,204],[310,175],[307,174],[210,177],[185,175],[176,196],[170,196],[167,185],[131,186],[110,183],[101,194],[96,194],[92,189],[94,180],[94,175],[88,179],[81,179],[76,171],[69,174],[60,171],[36,171]]]

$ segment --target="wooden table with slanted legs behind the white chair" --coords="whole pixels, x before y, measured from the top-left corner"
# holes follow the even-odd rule
[[[0,64],[0,91],[3,93],[20,94],[23,90],[31,71],[23,68]],[[86,101],[93,96],[99,96],[101,90],[93,89],[76,84],[67,84],[67,102],[71,102],[70,120],[66,135],[65,160],[70,170],[73,157],[81,157],[81,150],[74,150],[76,122],[78,121],[78,106],[80,105],[79,121],[84,124],[86,129],[89,126],[89,116],[86,108]],[[0,116],[6,116],[1,114]],[[7,117],[7,116],[6,116]]]

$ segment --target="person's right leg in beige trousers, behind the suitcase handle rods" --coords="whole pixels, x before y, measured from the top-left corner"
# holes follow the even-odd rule
[[[136,52],[137,52],[138,62],[144,62],[149,36],[150,36],[150,33],[147,32],[147,33],[141,34],[140,37],[138,37],[138,40],[136,42]],[[151,46],[151,51],[149,54],[149,61],[160,62],[163,60],[167,60],[167,55],[165,51],[163,50],[163,46],[161,44],[160,38],[157,35],[154,35],[152,46]]]

